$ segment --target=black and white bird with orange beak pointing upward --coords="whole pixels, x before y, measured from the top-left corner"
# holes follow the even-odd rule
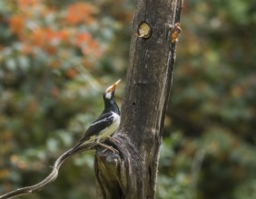
[[[114,151],[113,147],[109,147],[100,141],[103,138],[111,137],[119,127],[120,110],[114,100],[114,90],[120,81],[116,81],[103,92],[104,109],[102,114],[85,131],[84,137],[79,140],[72,151],[90,142],[95,142],[102,147]]]

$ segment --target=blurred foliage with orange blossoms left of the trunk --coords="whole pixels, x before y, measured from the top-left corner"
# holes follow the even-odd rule
[[[103,11],[105,3],[62,3],[0,2],[0,193],[48,175],[102,111],[102,90],[125,72],[125,59],[115,57],[127,60],[128,47],[120,51],[116,44],[132,16],[127,5],[116,3],[127,13],[117,20],[120,11]],[[53,185],[31,197],[95,198],[93,165],[94,153],[75,158]]]

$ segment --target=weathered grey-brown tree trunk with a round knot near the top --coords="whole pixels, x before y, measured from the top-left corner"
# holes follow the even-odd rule
[[[172,84],[182,0],[138,0],[120,128],[109,141],[119,153],[97,150],[99,198],[153,199],[162,126]]]

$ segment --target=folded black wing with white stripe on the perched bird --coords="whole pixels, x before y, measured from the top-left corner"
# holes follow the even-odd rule
[[[109,127],[113,122],[113,113],[107,112],[103,113],[99,118],[97,118],[93,124],[85,131],[84,137],[80,139],[80,142],[83,142],[90,137],[97,135],[104,128]]]

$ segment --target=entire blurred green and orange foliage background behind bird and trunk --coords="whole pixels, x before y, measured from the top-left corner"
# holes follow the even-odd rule
[[[48,175],[119,79],[121,105],[134,4],[0,1],[1,194]],[[181,26],[157,198],[256,198],[256,2],[184,1]],[[93,151],[24,198],[95,195]]]

